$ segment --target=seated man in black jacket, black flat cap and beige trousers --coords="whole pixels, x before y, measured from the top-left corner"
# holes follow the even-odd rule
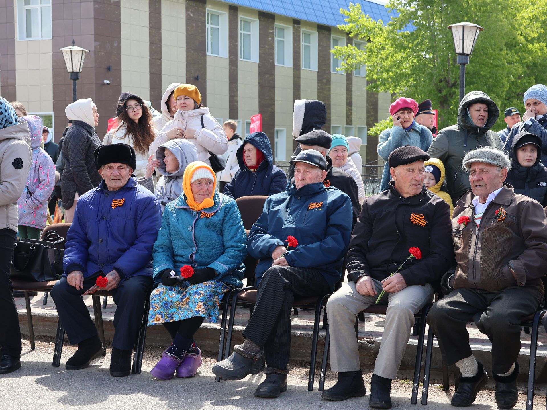
[[[450,208],[423,185],[427,160],[429,155],[413,145],[395,149],[388,158],[388,189],[363,203],[346,259],[348,282],[327,303],[330,368],[339,373],[323,399],[366,394],[353,326],[360,311],[379,303],[387,304],[387,314],[369,406],[391,407],[391,380],[397,377],[414,315],[432,300],[432,284],[453,262]],[[420,249],[420,259],[407,260],[410,248]]]

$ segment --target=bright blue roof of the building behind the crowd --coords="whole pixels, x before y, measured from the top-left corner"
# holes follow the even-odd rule
[[[382,20],[384,24],[391,20],[391,16],[397,15],[394,11],[388,12],[381,4],[366,0],[228,0],[225,3],[332,27],[345,24],[340,9],[348,9],[350,3],[360,4],[363,13],[374,20]]]

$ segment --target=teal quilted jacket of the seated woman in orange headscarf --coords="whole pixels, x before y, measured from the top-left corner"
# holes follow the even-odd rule
[[[236,288],[241,286],[247,256],[247,236],[236,201],[216,192],[214,205],[192,210],[184,194],[167,204],[158,239],[154,244],[154,280],[161,272],[179,273],[184,265],[213,268],[214,280]]]

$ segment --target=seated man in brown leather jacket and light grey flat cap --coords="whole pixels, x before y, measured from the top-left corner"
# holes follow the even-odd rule
[[[504,183],[509,157],[496,148],[469,151],[463,158],[471,189],[452,215],[455,274],[443,282],[448,295],[433,305],[428,323],[446,365],[459,367],[452,406],[465,407],[488,380],[469,347],[465,325],[474,321],[492,342],[492,376],[499,408],[513,408],[518,391],[520,322],[543,300],[547,264],[547,221],[539,202],[515,194]]]

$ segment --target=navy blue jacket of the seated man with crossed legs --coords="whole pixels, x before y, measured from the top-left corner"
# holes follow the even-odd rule
[[[260,259],[257,282],[272,265],[271,254],[287,237],[298,241],[285,255],[289,266],[315,268],[331,289],[341,278],[342,262],[350,244],[352,228],[350,197],[323,183],[304,185],[272,195],[247,238],[249,255]]]

